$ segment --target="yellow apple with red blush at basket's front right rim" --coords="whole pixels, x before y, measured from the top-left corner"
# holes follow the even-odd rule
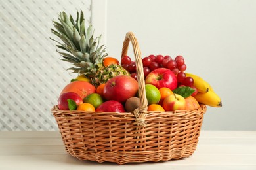
[[[186,110],[186,100],[179,94],[171,94],[163,100],[165,111]]]

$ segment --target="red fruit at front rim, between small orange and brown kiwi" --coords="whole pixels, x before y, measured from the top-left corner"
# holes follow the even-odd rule
[[[109,100],[99,105],[96,112],[125,112],[125,108],[119,101]]]

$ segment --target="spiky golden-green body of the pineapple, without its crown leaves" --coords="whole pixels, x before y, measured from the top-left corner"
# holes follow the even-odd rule
[[[108,65],[107,67],[103,66],[100,67],[94,77],[91,78],[92,83],[94,86],[98,86],[102,83],[106,83],[110,78],[113,78],[117,75],[130,75],[129,72],[121,65],[112,64]]]

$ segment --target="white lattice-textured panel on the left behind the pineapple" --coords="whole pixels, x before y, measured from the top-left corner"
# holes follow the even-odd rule
[[[49,39],[52,20],[81,9],[91,22],[91,0],[0,2],[0,130],[56,130],[51,107],[75,75]]]

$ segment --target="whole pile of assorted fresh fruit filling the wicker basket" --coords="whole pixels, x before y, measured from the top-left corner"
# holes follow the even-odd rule
[[[133,112],[139,107],[135,61],[108,56],[100,37],[93,38],[91,25],[85,28],[83,12],[77,18],[60,13],[52,33],[62,42],[57,47],[64,61],[72,63],[77,77],[67,84],[58,99],[60,110],[87,112]],[[202,78],[185,73],[183,56],[150,55],[142,58],[148,111],[198,109],[200,103],[221,107],[221,99]]]

